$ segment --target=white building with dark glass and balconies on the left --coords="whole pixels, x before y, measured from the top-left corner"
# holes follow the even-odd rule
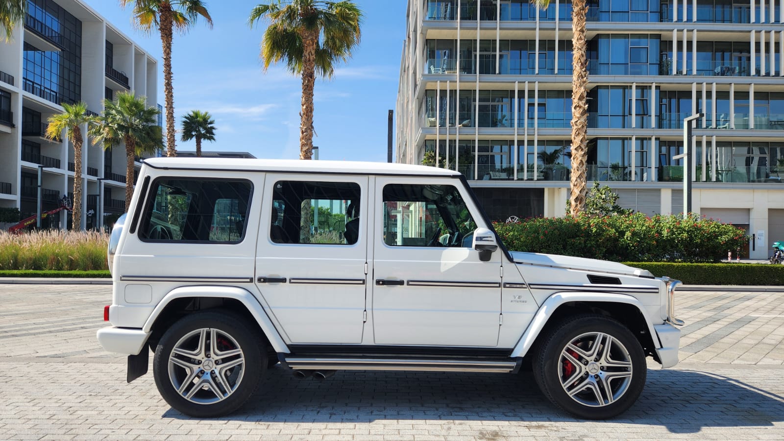
[[[100,222],[101,206],[106,215],[122,213],[125,180],[133,179],[125,176],[125,148],[104,151],[85,137],[76,171],[71,143],[44,133],[61,103],[83,100],[97,113],[104,98],[127,90],[155,105],[158,61],[82,0],[28,0],[24,24],[13,40],[0,42],[0,207],[19,208],[23,218],[35,214],[40,169],[43,211],[72,195],[77,177],[85,194],[82,228]],[[71,216],[64,213],[44,226],[65,227]]]

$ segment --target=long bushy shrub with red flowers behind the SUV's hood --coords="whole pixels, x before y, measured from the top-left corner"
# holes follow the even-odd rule
[[[718,262],[749,240],[740,228],[696,214],[535,217],[494,227],[512,251],[619,262]]]

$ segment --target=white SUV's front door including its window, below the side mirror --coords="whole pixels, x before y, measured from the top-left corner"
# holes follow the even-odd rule
[[[498,343],[501,252],[481,261],[485,227],[459,180],[377,177],[372,319],[376,344]]]

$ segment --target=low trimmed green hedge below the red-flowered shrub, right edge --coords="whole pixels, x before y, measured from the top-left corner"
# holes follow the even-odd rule
[[[686,285],[784,285],[784,265],[768,264],[681,264],[670,262],[625,262],[666,275]]]

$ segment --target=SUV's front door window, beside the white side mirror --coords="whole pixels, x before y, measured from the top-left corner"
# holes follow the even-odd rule
[[[470,248],[477,228],[452,185],[388,184],[383,189],[384,242],[389,246]]]

